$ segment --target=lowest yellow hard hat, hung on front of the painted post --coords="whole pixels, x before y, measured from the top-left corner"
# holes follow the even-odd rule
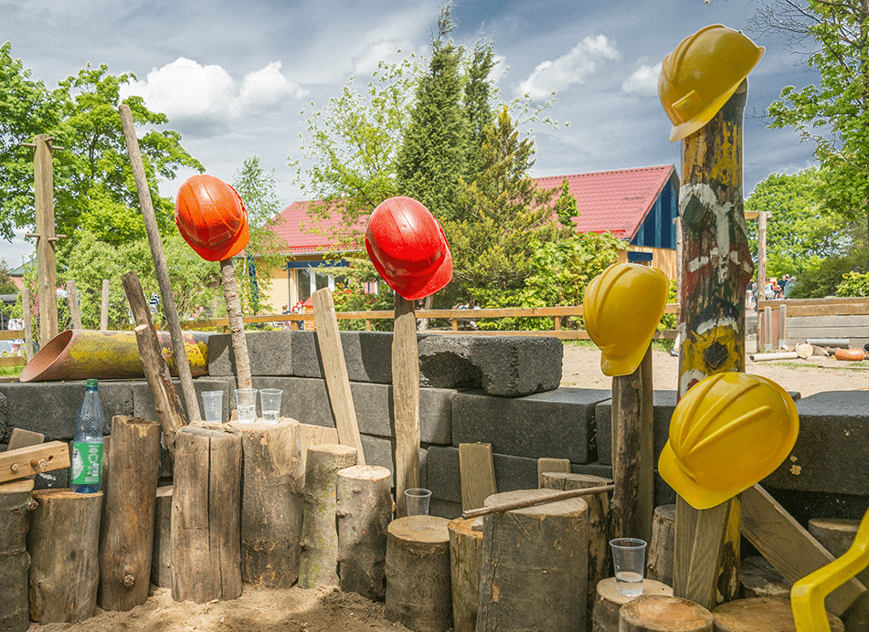
[[[710,375],[673,410],[658,471],[694,509],[710,509],[778,468],[799,430],[797,406],[779,384],[744,373]]]

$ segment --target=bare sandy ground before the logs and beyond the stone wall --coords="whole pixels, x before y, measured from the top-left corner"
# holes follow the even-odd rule
[[[754,353],[754,342],[747,353]],[[653,352],[654,388],[675,390],[678,359],[666,352]],[[787,362],[747,361],[747,373],[767,376],[803,397],[822,391],[869,389],[869,362],[843,363],[832,357],[811,357]],[[609,388],[611,379],[600,372],[596,349],[565,345],[563,386]],[[233,632],[377,632],[406,630],[387,621],[383,604],[348,595],[334,588],[285,590],[245,585],[244,594],[232,601],[195,605],[176,603],[167,588],[156,588],[143,606],[129,612],[98,611],[97,616],[79,624],[51,624],[30,627],[30,632],[75,630],[115,632],[148,630],[192,632],[232,630]]]

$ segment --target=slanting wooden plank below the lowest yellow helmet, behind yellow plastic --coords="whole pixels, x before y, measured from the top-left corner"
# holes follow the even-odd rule
[[[742,534],[790,583],[835,559],[759,485],[743,491],[739,500]],[[676,529],[678,533],[678,522]],[[833,615],[842,616],[865,592],[864,585],[852,578],[827,595],[824,604]]]

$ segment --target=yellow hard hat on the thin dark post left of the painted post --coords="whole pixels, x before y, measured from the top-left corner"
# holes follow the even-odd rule
[[[583,316],[600,349],[603,374],[629,375],[640,366],[667,306],[669,285],[661,270],[636,263],[615,263],[591,279]]]

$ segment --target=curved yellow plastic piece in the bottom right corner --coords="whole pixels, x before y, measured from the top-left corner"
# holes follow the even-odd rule
[[[839,559],[794,582],[790,608],[797,632],[830,632],[823,600],[869,566],[869,511],[864,514],[851,548]]]

